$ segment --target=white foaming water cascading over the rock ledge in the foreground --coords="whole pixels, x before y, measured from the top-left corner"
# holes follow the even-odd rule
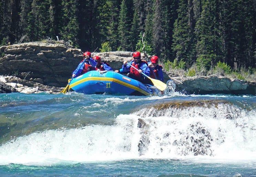
[[[111,126],[90,125],[83,128],[34,132],[2,144],[0,165],[9,163],[49,165],[62,161],[142,158],[194,158],[220,163],[232,160],[256,161],[255,111],[236,112],[236,115],[233,115],[236,117],[227,119],[224,110],[225,108],[194,107],[180,110],[177,114],[167,113],[157,117],[121,114]],[[213,113],[216,111],[219,111],[216,114],[218,116],[214,117]],[[141,128],[138,127],[138,119],[145,123]],[[206,134],[201,132],[202,129]],[[143,137],[148,138],[149,142],[145,143],[146,149],[141,153],[138,145]],[[193,139],[203,137],[202,146],[205,146],[205,141],[210,142],[210,147],[205,149],[207,154],[194,156],[193,151],[186,149],[186,147],[193,148],[194,142],[190,141],[191,137]]]

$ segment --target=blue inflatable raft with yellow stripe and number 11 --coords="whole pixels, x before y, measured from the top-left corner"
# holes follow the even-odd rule
[[[71,80],[69,91],[84,94],[125,94],[147,96],[160,94],[160,90],[152,85],[145,85],[125,75],[108,71],[101,73],[89,71]]]

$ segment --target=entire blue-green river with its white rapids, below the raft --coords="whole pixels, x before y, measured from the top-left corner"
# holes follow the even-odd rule
[[[256,96],[0,94],[0,176],[256,176]]]

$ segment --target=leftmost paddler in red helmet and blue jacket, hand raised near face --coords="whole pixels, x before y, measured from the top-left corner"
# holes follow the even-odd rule
[[[83,61],[84,61],[84,60],[82,60],[79,63],[79,65],[77,66],[77,68],[75,69],[75,71],[73,71],[72,77],[77,77],[77,76],[87,73],[89,71],[97,70],[96,69],[97,62],[91,58],[90,52],[84,52],[83,57],[85,60],[84,65],[82,66]]]

